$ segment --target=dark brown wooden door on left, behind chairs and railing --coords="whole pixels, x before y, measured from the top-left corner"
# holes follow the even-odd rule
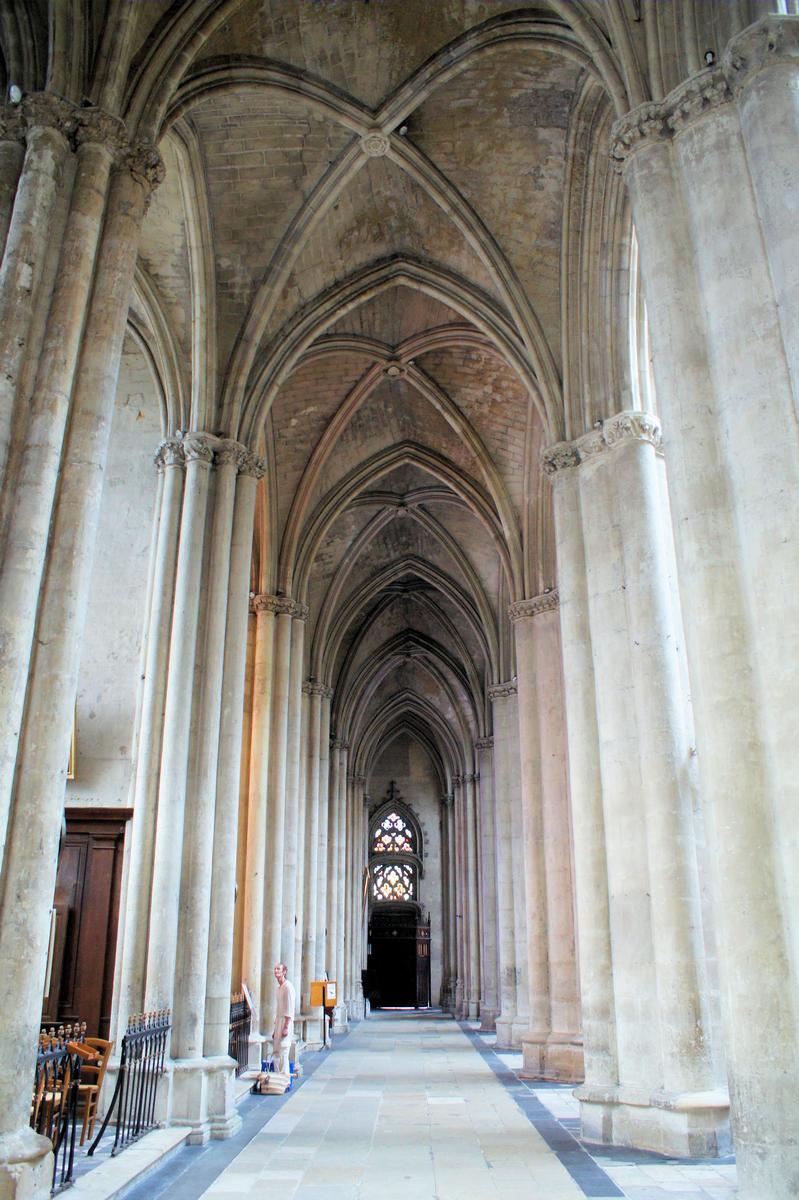
[[[44,1025],[82,1020],[107,1038],[114,986],[125,824],[130,809],[67,809],[53,899]]]

